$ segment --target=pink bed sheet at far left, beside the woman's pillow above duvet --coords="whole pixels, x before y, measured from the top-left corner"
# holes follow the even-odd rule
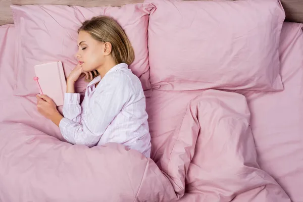
[[[49,124],[36,110],[34,96],[13,96],[14,59],[15,59],[15,26],[0,27],[0,122],[24,123],[37,128],[43,133],[60,137],[58,127]],[[26,107],[25,107],[26,106]],[[62,108],[60,108],[62,110]],[[39,121],[37,121],[39,120]]]

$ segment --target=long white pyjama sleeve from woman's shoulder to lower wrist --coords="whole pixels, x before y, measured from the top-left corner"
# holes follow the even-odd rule
[[[67,118],[61,120],[61,133],[70,143],[89,147],[96,145],[134,94],[134,87],[127,75],[109,75],[102,82],[102,86],[96,88],[91,97],[82,125]]]

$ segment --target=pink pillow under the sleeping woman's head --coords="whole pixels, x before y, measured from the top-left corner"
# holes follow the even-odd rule
[[[59,5],[11,6],[17,29],[15,60],[15,95],[38,93],[34,65],[60,60],[67,77],[77,64],[77,30],[81,22],[93,16],[106,15],[118,21],[135,51],[135,61],[129,67],[141,80],[144,90],[150,89],[148,70],[147,28],[150,10],[144,4],[122,7],[84,8]],[[77,92],[83,92],[87,82],[79,81]]]

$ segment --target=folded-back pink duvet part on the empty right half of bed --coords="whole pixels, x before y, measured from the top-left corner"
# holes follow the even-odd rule
[[[290,201],[257,163],[249,118],[238,93],[206,90],[190,101],[159,164],[180,201]]]

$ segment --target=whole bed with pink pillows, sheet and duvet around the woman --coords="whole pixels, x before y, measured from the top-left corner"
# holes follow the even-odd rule
[[[203,75],[207,75],[204,79],[214,77],[215,81],[200,82],[198,79],[203,78],[199,72],[200,66],[199,69],[188,66],[191,69],[186,71],[181,61],[183,52],[181,55],[178,55],[180,52],[174,52],[179,48],[173,46],[176,45],[173,42],[177,37],[163,34],[164,31],[165,33],[171,31],[176,34],[174,36],[187,34],[189,39],[194,37],[195,35],[190,35],[191,31],[188,31],[195,23],[191,15],[187,15],[192,20],[191,26],[187,26],[190,23],[184,20],[185,17],[181,16],[181,18],[177,15],[193,7],[204,9],[205,14],[201,17],[208,19],[205,21],[205,26],[209,26],[209,29],[206,30],[226,29],[224,26],[212,27],[214,22],[225,22],[226,17],[223,14],[222,18],[214,17],[211,12],[220,12],[224,4],[230,8],[229,3],[222,4],[223,1],[220,1],[221,3],[218,3],[220,8],[217,8],[216,1],[214,4],[200,5],[176,0],[169,0],[171,4],[160,0],[142,2],[140,0],[0,0],[0,25],[2,25],[0,26],[0,201],[303,201],[300,188],[303,186],[303,2],[282,1],[281,5],[284,9],[282,10],[280,4],[276,3],[278,1],[272,1],[275,3],[271,2],[268,5],[265,3],[265,6],[259,10],[260,15],[269,16],[268,19],[271,19],[272,24],[281,20],[281,27],[277,29],[273,26],[271,29],[266,29],[258,24],[260,29],[251,29],[249,33],[255,33],[254,31],[257,30],[264,33],[262,35],[264,38],[274,38],[270,34],[275,32],[274,36],[278,36],[278,41],[269,42],[266,39],[255,38],[256,40],[252,40],[254,43],[249,43],[245,37],[260,35],[245,32],[247,34],[244,35],[245,45],[250,45],[250,52],[257,53],[256,47],[262,47],[259,48],[258,53],[263,53],[267,47],[269,47],[268,53],[277,52],[276,55],[267,54],[267,57],[263,58],[263,63],[267,62],[268,66],[274,67],[273,59],[278,57],[279,63],[276,65],[279,66],[278,72],[276,69],[268,70],[262,65],[258,69],[259,63],[252,65],[258,69],[258,72],[248,71],[247,68],[239,73],[235,69],[233,71],[220,69],[223,71],[221,76],[232,75],[231,80],[222,76],[224,82],[229,82],[229,85],[222,83],[223,80],[216,83],[219,79],[212,76],[210,72],[203,72]],[[16,6],[10,7],[11,4]],[[39,6],[18,6],[36,4]],[[41,6],[42,4],[45,6]],[[123,7],[125,4],[136,6],[135,9],[132,6]],[[247,9],[247,13],[251,12],[251,5],[245,4],[237,6],[242,6],[243,10]],[[110,5],[115,8],[102,8]],[[119,8],[116,8],[118,6]],[[164,12],[162,16],[167,15],[165,19],[172,23],[166,22],[158,14],[162,8],[163,11],[170,11],[168,10],[170,6],[177,8],[174,10],[177,14],[172,11],[171,15],[167,15]],[[213,7],[219,10],[214,10]],[[272,13],[280,12],[277,16],[282,16],[285,12],[285,22],[283,22],[284,18],[279,19],[274,14],[271,18],[267,15],[267,9],[273,9]],[[23,12],[19,21],[16,21],[17,24],[13,24],[12,10],[15,21],[20,15],[18,12]],[[37,16],[41,16],[41,19],[31,18],[33,11]],[[65,21],[58,11],[67,13],[64,16]],[[77,12],[79,15],[76,14]],[[20,78],[19,83],[16,81],[18,80],[16,68],[20,68],[21,60],[26,59],[21,64],[26,64],[28,58],[29,62],[38,60],[36,57],[31,58],[30,53],[35,55],[34,51],[41,48],[35,44],[40,40],[39,33],[47,30],[56,37],[56,32],[61,35],[66,34],[70,37],[65,38],[65,42],[68,40],[73,42],[72,39],[76,36],[73,35],[74,29],[78,24],[73,26],[70,24],[98,13],[114,17],[117,15],[117,18],[120,15],[124,16],[126,20],[121,20],[120,23],[125,25],[126,32],[134,41],[135,49],[139,49],[136,55],[139,60],[135,63],[141,69],[134,69],[134,72],[142,81],[146,95],[146,111],[149,116],[152,144],[150,159],[116,143],[88,148],[84,145],[72,145],[60,139],[58,127],[37,112],[34,96],[36,89],[32,88],[32,83]],[[47,15],[42,17],[44,14]],[[69,19],[72,15],[75,15],[75,18]],[[194,15],[198,16],[196,13]],[[172,16],[176,21],[168,16]],[[254,16],[258,18],[257,15]],[[225,23],[228,24],[232,18],[236,21],[238,16],[230,15]],[[48,23],[54,23],[53,20],[60,26],[52,25],[52,32],[52,29],[49,29],[51,25]],[[25,21],[29,24],[21,26]],[[45,26],[41,28],[43,32],[38,32],[35,26],[41,22]],[[163,28],[161,22],[167,23],[168,26]],[[255,25],[254,22],[250,23]],[[17,26],[22,29],[19,27],[17,30]],[[135,30],[133,26],[136,28],[141,26],[142,35],[137,31],[133,34],[132,30]],[[60,27],[65,28],[60,31]],[[175,27],[181,31],[177,33]],[[180,27],[183,29],[179,29]],[[26,28],[36,30],[37,35],[28,33]],[[242,33],[243,29],[236,28],[237,30],[226,32],[230,33],[230,37],[242,40],[243,35],[237,36],[237,33]],[[201,32],[205,30],[195,29]],[[26,41],[23,40],[22,46],[16,45],[16,41],[19,40],[20,43],[24,37],[23,35],[17,37],[18,32],[27,34],[27,39],[31,43],[25,44]],[[216,41],[220,41],[223,36],[220,35],[221,32],[215,37],[211,36],[213,33],[211,31],[206,33],[210,34],[208,39],[215,38]],[[157,38],[158,34],[161,38]],[[203,38],[200,36],[199,38]],[[157,40],[151,42],[155,38]],[[222,41],[226,41],[225,38],[223,39]],[[52,38],[49,40],[52,41]],[[142,41],[145,44],[143,46]],[[207,44],[205,47],[202,45],[196,47],[196,38],[193,41],[194,43],[189,43],[189,46],[194,47],[193,50],[196,52],[199,49],[195,48],[207,47],[209,52],[219,48],[234,55],[234,58],[241,58],[241,54],[247,54],[242,52],[245,46],[241,44],[239,49],[231,51],[226,49],[227,45],[222,41],[224,45],[218,47]],[[166,49],[166,42],[174,48]],[[233,43],[237,42],[233,41]],[[49,42],[45,44],[52,45]],[[161,46],[162,44],[164,46]],[[255,44],[261,46],[255,47]],[[21,57],[20,54],[16,54],[16,49],[20,50],[20,47],[26,49],[27,55]],[[58,47],[57,43],[55,47]],[[159,51],[159,47],[162,52]],[[31,51],[31,48],[34,50]],[[48,53],[46,54],[48,58],[44,59],[41,56],[43,60],[62,57],[57,52],[45,53]],[[149,61],[146,60],[147,54]],[[72,55],[73,52],[70,51],[61,58],[65,61],[65,67],[68,67],[65,70],[66,74],[74,64],[70,61]],[[208,56],[208,53],[205,55]],[[162,64],[171,63],[171,58],[176,56],[179,61],[176,60],[173,67],[166,69],[162,67]],[[250,58],[247,57],[245,64],[249,66],[249,63],[254,63],[258,60],[256,56],[261,57],[258,54],[249,55]],[[190,57],[193,57],[192,61],[197,60],[201,63],[200,55],[192,54]],[[226,60],[225,55],[220,58],[218,54],[216,57],[220,59],[219,62]],[[41,58],[39,60],[42,60]],[[212,56],[207,58],[214,59]],[[207,58],[204,58],[206,67],[212,62]],[[190,61],[185,62],[191,64]],[[236,63],[240,62],[236,61]],[[177,68],[178,63],[182,63],[181,69]],[[212,63],[213,66],[215,64]],[[226,62],[226,67],[228,68],[230,64],[234,62]],[[192,66],[195,65],[196,63],[192,63]],[[28,69],[19,71],[19,77],[31,76],[27,71]],[[216,74],[218,72],[215,71]],[[250,79],[252,76],[245,77],[245,73],[257,75],[260,72],[262,75],[270,76],[276,73],[277,77],[270,78],[270,82],[262,75],[258,77],[258,82],[256,79]],[[195,77],[195,74],[198,76]],[[281,83],[275,83],[277,78],[278,81],[280,78]],[[189,82],[190,79],[197,80]],[[233,80],[237,79],[235,85]],[[83,91],[84,85],[85,83],[79,83],[78,90]],[[62,108],[59,107],[59,111],[61,110]]]

